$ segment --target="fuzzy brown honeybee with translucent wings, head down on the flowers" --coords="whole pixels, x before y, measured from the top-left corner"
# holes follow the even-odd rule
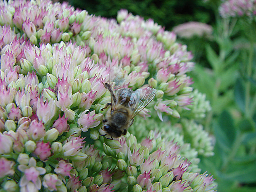
[[[156,90],[153,88],[137,89],[133,91],[129,88],[120,88],[114,94],[110,84],[103,83],[104,87],[110,91],[111,103],[107,103],[102,109],[108,106],[111,108],[106,112],[102,130],[111,139],[118,138],[127,133],[127,129],[132,125],[134,117],[143,110],[155,97]]]

